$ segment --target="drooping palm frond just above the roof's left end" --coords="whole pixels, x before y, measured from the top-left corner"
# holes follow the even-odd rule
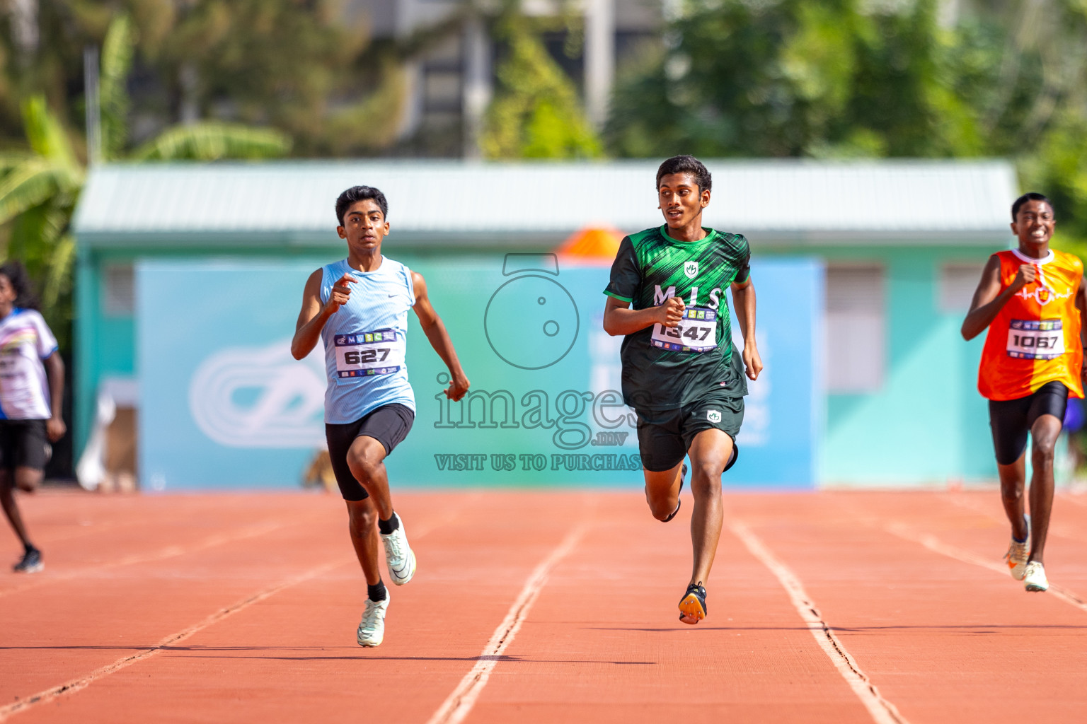
[[[290,151],[290,137],[271,128],[203,122],[167,128],[133,153],[136,161],[274,158]]]

